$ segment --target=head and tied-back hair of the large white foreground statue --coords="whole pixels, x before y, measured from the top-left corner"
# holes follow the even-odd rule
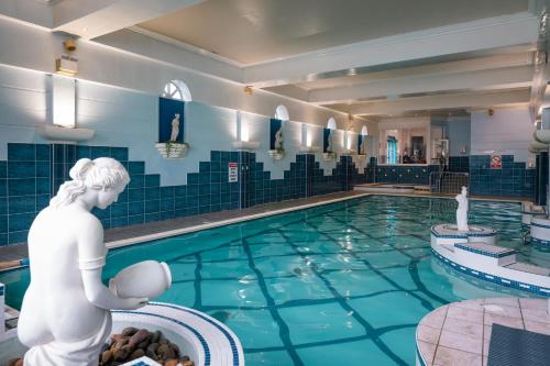
[[[91,192],[97,195],[97,207],[106,209],[117,201],[130,182],[127,169],[113,158],[82,158],[69,170],[73,180],[64,182],[57,195],[50,201],[53,207],[73,203],[77,197]]]

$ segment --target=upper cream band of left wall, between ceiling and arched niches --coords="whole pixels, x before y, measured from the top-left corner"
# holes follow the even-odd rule
[[[0,34],[0,65],[55,71],[54,60],[63,53],[63,36],[2,18]],[[209,106],[274,115],[275,108],[285,104],[293,121],[324,125],[333,117],[340,129],[348,123],[345,113],[263,90],[254,90],[252,96],[246,96],[243,85],[95,42],[78,42],[74,56],[79,59],[78,78],[81,80],[157,95],[168,80],[180,79],[188,85],[194,100]],[[376,130],[375,123],[361,124],[366,124],[370,131]],[[358,127],[361,129],[361,125]]]

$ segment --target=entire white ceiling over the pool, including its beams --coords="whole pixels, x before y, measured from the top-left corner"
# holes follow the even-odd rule
[[[547,3],[0,0],[0,15],[354,115],[441,115],[538,109]]]

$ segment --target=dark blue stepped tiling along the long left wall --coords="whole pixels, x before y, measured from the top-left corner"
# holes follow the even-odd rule
[[[340,157],[326,176],[314,155],[298,154],[284,179],[272,179],[254,153],[212,151],[198,173],[187,175],[187,185],[161,187],[161,176],[145,174],[144,162],[130,162],[127,147],[10,143],[8,160],[0,162],[0,245],[25,242],[37,212],[70,179],[75,162],[102,156],[121,162],[131,178],[118,202],[92,210],[105,229],[350,190],[350,176],[364,176],[350,156]],[[238,182],[228,180],[230,162],[240,163]]]

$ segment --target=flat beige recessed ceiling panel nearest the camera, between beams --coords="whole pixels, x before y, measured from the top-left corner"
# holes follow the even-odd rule
[[[528,10],[528,0],[208,0],[140,26],[242,64]]]

